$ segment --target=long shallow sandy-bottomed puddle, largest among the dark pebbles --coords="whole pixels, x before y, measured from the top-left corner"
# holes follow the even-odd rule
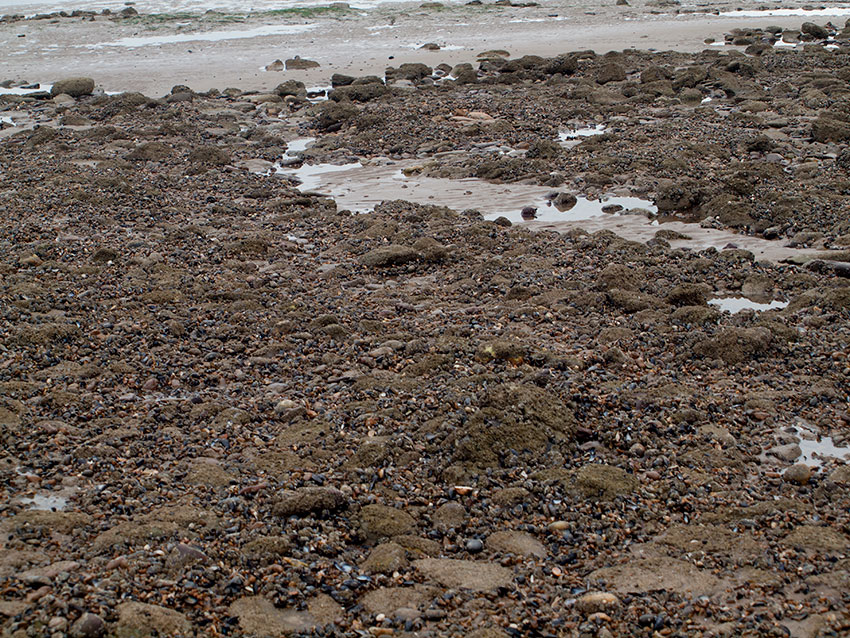
[[[486,219],[507,217],[514,223],[527,225],[534,230],[567,232],[583,229],[589,233],[609,230],[639,242],[655,238],[655,234],[661,229],[671,230],[682,235],[679,239],[667,240],[673,248],[694,251],[706,248],[740,248],[752,252],[757,259],[769,261],[799,258],[801,255],[810,256],[814,252],[788,248],[780,241],[739,235],[728,230],[702,228],[695,223],[669,220],[660,223],[653,219],[656,208],[652,202],[635,197],[613,194],[599,200],[577,197],[574,206],[559,208],[552,202],[553,189],[545,186],[492,184],[477,178],[442,179],[405,175],[406,169],[421,165],[422,160],[383,159],[373,160],[365,165],[362,162],[352,162],[342,165],[302,164],[293,167],[298,154],[313,141],[312,138],[302,138],[290,142],[281,162],[270,172],[297,178],[300,180],[299,190],[302,192],[315,192],[332,197],[341,209],[353,212],[367,212],[382,201],[401,199],[419,204],[446,206],[457,211],[475,209]],[[528,214],[523,216],[523,209],[528,208],[536,209],[533,217]]]

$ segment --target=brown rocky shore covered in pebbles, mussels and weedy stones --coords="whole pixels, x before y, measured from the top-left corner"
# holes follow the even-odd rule
[[[2,635],[848,635],[844,36],[0,95]],[[661,223],[354,214],[304,137]]]

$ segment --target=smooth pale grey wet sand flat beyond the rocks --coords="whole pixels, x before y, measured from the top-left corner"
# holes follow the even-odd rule
[[[702,10],[729,9],[712,4]],[[264,91],[287,79],[308,85],[327,84],[333,73],[382,76],[389,64],[423,60],[432,65],[474,62],[476,54],[490,49],[505,49],[513,56],[552,56],[581,49],[597,53],[628,48],[692,52],[706,48],[705,38],[722,39],[724,32],[738,26],[775,24],[797,28],[801,22],[799,16],[734,18],[709,13],[656,15],[652,11],[658,9],[637,3],[635,7],[600,7],[592,15],[581,7],[549,4],[534,8],[451,6],[440,11],[399,4],[352,10],[337,17],[249,17],[233,24],[199,18],[154,24],[104,17],[94,22],[70,18],[25,21],[0,24],[0,80],[51,82],[74,69],[76,74],[95,78],[107,91],[162,95],[178,84],[196,91],[229,86]],[[124,38],[188,34],[209,37],[209,32],[245,31],[269,25],[306,30],[217,42],[197,40],[136,47],[104,44]],[[417,50],[427,42],[450,49]],[[315,60],[321,67],[261,71],[277,59],[296,55]]]

